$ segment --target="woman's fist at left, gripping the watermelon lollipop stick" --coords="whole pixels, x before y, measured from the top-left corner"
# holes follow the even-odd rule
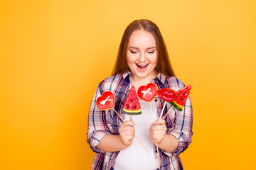
[[[135,135],[134,125],[135,123],[133,120],[126,121],[120,125],[119,134],[124,147],[129,147],[129,145],[132,145],[132,139]]]

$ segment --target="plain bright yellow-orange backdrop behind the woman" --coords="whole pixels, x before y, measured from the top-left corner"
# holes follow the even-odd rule
[[[184,169],[255,169],[255,11],[254,0],[2,0],[0,169],[90,169],[90,101],[139,18],[192,85]]]

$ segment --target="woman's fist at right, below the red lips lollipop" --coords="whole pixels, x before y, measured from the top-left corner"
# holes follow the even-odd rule
[[[151,142],[156,145],[156,141],[158,144],[161,143],[161,141],[164,139],[164,136],[166,135],[166,124],[164,119],[157,119],[156,122],[152,123],[149,128],[149,135],[151,138]]]

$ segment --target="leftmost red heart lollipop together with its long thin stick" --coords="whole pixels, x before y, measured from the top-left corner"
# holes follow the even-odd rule
[[[135,94],[136,94],[136,92],[135,92]],[[138,101],[139,101],[139,99],[138,99]],[[101,110],[110,110],[110,109],[114,110],[114,94],[112,94],[111,91],[104,91],[102,96],[97,98],[96,105]],[[139,108],[140,108],[140,106],[139,106]],[[114,112],[117,113],[116,110],[114,110]],[[124,122],[124,120],[122,119],[122,117],[118,113],[117,113],[117,115]],[[136,137],[136,139],[139,141],[139,143],[142,145],[142,147],[144,147],[144,145],[142,144],[142,142],[140,142],[138,137],[135,136],[135,135],[134,135],[134,137]],[[145,147],[144,147],[144,149],[146,150]],[[146,152],[148,152],[148,151],[146,150]]]

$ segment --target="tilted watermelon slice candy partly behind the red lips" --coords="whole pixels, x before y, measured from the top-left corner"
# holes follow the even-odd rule
[[[188,85],[177,91],[176,94],[178,94],[178,99],[176,101],[171,101],[171,106],[173,106],[178,111],[182,111],[190,91],[191,85]]]

